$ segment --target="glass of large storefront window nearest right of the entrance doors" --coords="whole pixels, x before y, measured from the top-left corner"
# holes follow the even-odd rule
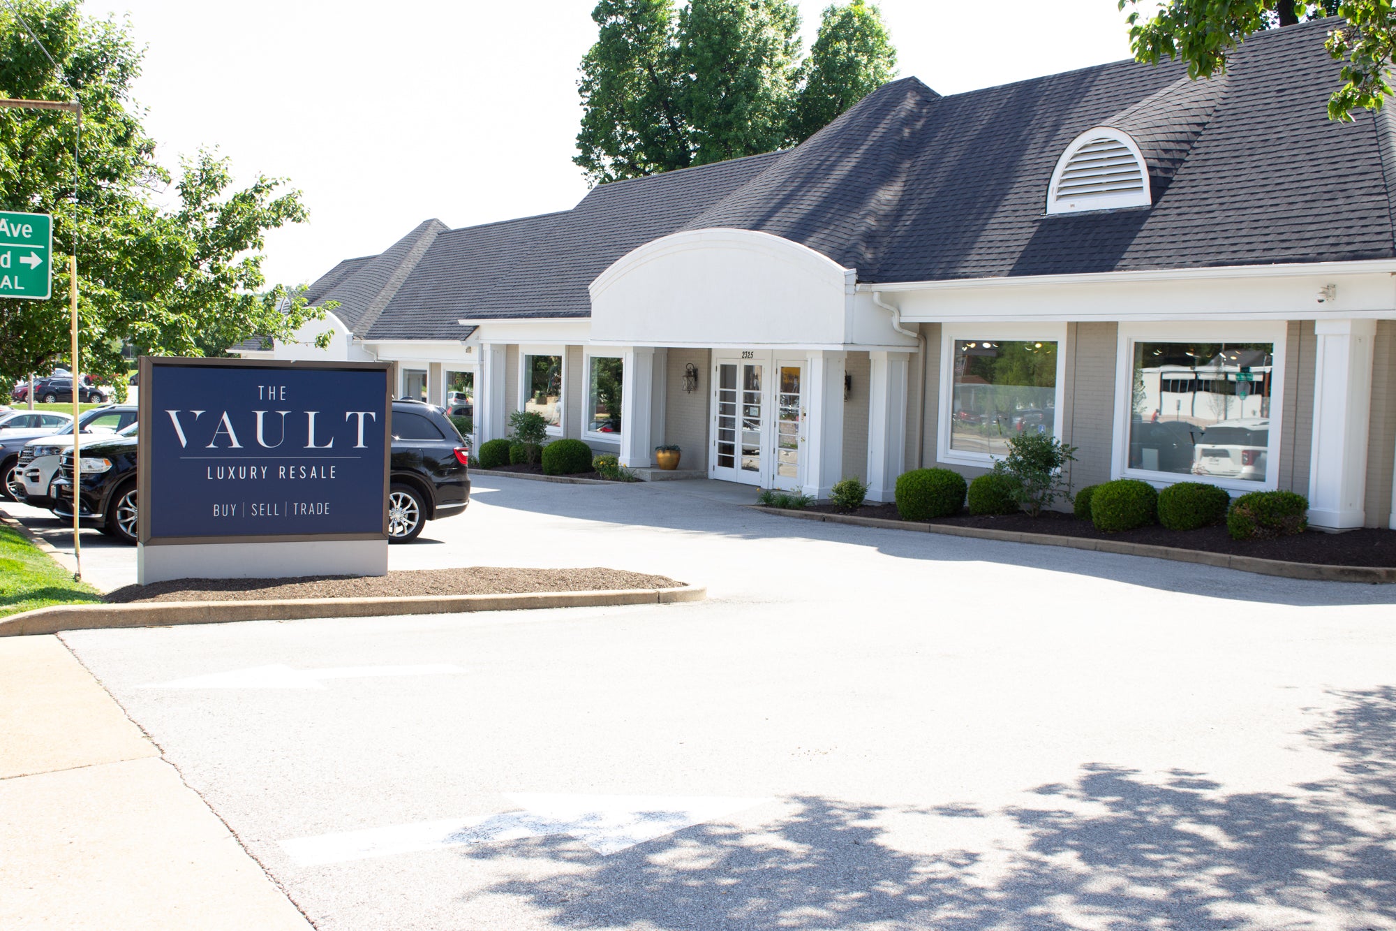
[[[955,340],[949,449],[1007,456],[1018,433],[1054,433],[1057,351],[1053,340]]]

